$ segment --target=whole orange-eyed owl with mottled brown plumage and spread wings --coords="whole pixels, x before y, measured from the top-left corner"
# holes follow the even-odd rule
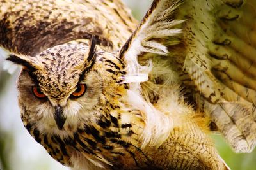
[[[21,118],[73,169],[229,169],[256,145],[255,0],[0,0]]]

